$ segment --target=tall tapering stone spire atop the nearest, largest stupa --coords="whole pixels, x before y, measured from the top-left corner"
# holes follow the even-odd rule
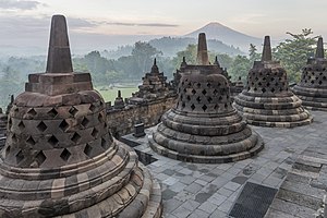
[[[47,73],[72,72],[73,66],[65,17],[63,15],[53,15],[51,20]]]

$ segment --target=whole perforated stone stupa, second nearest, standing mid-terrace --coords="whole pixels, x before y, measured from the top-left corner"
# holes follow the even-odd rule
[[[263,148],[231,105],[230,87],[218,64],[209,64],[205,34],[199,34],[197,65],[184,65],[178,102],[149,137],[150,147],[167,157],[192,162],[229,162]]]

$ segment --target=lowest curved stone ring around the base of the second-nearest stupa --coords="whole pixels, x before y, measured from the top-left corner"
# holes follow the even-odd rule
[[[254,131],[252,131],[252,134],[257,136],[257,143],[254,147],[252,147],[250,150],[237,153],[237,154],[230,154],[226,156],[199,156],[199,155],[189,155],[189,154],[181,154],[177,153],[174,150],[168,149],[158,143],[156,143],[153,138],[153,135],[148,136],[149,146],[158,153],[159,155],[181,160],[181,161],[187,161],[187,162],[197,162],[197,164],[223,164],[223,162],[234,162],[238,160],[243,160],[250,157],[255,156],[264,148],[264,141],[263,138]],[[204,145],[205,146],[205,145]]]

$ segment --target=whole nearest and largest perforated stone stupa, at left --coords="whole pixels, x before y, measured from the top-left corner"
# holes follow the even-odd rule
[[[161,194],[112,138],[88,73],[73,73],[65,19],[51,23],[46,73],[29,74],[9,113],[1,217],[159,217]]]

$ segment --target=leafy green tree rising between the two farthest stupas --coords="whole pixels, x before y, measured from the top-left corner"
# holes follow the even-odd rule
[[[287,33],[292,38],[286,39],[274,49],[274,56],[279,60],[288,72],[290,82],[298,82],[301,69],[305,65],[307,58],[314,56],[316,38],[312,37],[311,28],[302,29],[301,34]]]

